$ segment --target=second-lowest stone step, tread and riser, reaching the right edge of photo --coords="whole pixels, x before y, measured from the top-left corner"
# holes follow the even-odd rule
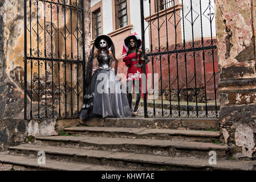
[[[11,156],[25,155],[36,157],[38,151],[46,153],[46,163],[54,159],[70,162],[80,162],[94,166],[113,166],[117,169],[136,170],[255,170],[255,161],[217,160],[217,164],[209,164],[209,159],[193,159],[184,157],[171,157],[160,155],[135,154],[131,152],[115,152],[100,150],[85,150],[81,148],[39,146],[35,144],[22,144],[10,147]],[[9,158],[10,155],[9,155]],[[66,166],[71,168],[71,166]],[[79,166],[76,166],[79,168]],[[95,167],[94,167],[95,168]],[[96,167],[99,168],[99,167]],[[88,169],[88,168],[87,168]],[[110,170],[110,168],[108,168]]]

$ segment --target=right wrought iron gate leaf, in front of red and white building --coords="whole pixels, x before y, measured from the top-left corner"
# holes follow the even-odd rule
[[[140,2],[143,49],[152,73],[145,117],[218,117],[214,1]]]

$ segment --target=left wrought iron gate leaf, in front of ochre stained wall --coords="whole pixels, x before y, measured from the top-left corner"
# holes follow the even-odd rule
[[[78,117],[85,92],[84,1],[25,0],[24,13],[25,119]]]

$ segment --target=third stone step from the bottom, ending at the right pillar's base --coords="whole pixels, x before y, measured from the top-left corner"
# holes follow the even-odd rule
[[[136,154],[157,154],[209,158],[210,151],[216,151],[218,159],[228,157],[227,146],[180,140],[131,139],[107,137],[36,137],[36,143],[50,146],[66,146],[93,150],[135,152]]]

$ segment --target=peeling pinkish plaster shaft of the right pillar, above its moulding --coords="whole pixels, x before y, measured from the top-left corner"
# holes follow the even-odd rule
[[[216,1],[220,78],[255,77],[251,0]]]

